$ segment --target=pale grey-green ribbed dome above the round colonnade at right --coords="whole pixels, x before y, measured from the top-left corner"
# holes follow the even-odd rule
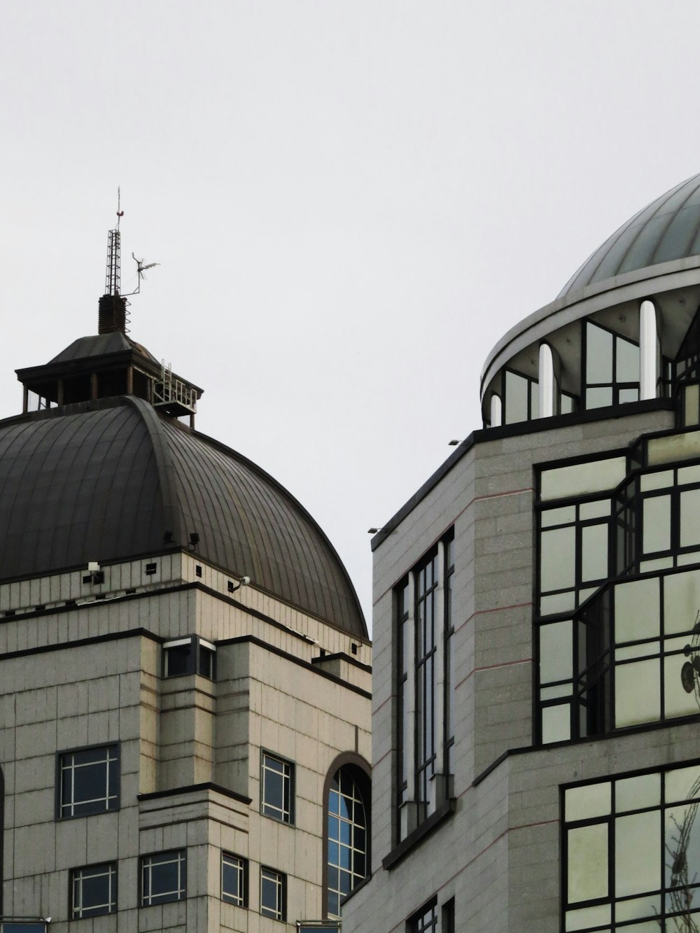
[[[666,191],[599,246],[559,298],[624,272],[700,256],[700,174]]]

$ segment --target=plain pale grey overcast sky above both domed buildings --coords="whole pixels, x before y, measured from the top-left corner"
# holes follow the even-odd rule
[[[22,0],[0,11],[0,418],[130,336],[287,487],[371,625],[371,536],[482,426],[479,376],[700,172],[696,0]],[[245,572],[241,568],[241,572]]]

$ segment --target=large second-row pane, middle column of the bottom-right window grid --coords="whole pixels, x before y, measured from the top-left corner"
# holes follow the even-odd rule
[[[615,820],[615,894],[618,898],[661,887],[659,812]]]

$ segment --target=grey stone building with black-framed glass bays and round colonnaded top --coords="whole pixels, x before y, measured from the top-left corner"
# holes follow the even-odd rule
[[[343,933],[700,929],[699,231],[700,175],[513,327],[373,537]]]

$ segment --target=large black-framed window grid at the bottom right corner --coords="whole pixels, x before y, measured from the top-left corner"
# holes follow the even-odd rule
[[[696,929],[698,805],[698,764],[567,787],[564,928]]]

